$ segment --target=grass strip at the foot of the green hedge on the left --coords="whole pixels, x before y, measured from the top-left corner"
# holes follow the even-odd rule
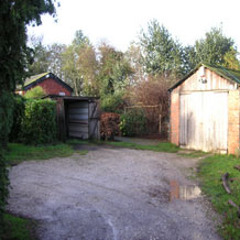
[[[33,146],[21,143],[9,143],[6,160],[9,165],[15,165],[22,161],[65,157],[70,156],[73,153],[74,150],[68,144]]]

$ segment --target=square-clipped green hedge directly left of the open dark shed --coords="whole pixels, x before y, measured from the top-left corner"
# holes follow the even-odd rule
[[[56,102],[46,99],[28,100],[21,123],[24,143],[43,144],[56,140]]]

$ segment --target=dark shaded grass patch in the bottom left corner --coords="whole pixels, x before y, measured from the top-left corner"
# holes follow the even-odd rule
[[[33,240],[35,223],[31,220],[15,217],[10,214],[3,215],[4,229],[2,240]],[[0,236],[1,237],[1,236]]]

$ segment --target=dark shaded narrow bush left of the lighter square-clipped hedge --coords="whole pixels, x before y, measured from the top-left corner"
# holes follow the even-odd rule
[[[20,141],[20,134],[21,134],[21,123],[22,119],[24,117],[25,111],[25,99],[17,95],[14,97],[14,109],[13,109],[13,124],[12,129],[9,135],[10,142],[19,142]]]

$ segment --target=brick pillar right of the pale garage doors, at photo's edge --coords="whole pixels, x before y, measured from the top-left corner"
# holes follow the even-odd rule
[[[239,154],[239,90],[230,90],[228,97],[228,154]]]

